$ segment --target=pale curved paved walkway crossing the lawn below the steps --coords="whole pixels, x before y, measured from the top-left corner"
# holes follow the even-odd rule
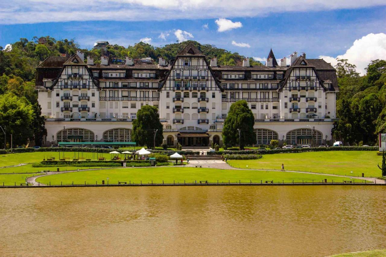
[[[249,170],[249,171],[279,171],[279,170],[272,170],[272,169],[239,169],[239,168],[234,168],[230,166],[228,163],[220,160],[205,160],[205,161],[195,161],[196,163],[192,163],[193,161],[190,161],[189,164],[185,166],[168,166],[170,168],[174,167],[195,167],[196,165],[201,165],[203,168],[213,168],[213,169],[238,169],[238,170]],[[159,166],[159,167],[165,167],[165,166]],[[127,167],[118,167],[115,169],[126,169]],[[142,167],[134,167],[130,169],[140,169]],[[151,167],[151,168],[158,168],[158,167]],[[81,171],[93,171],[93,170],[102,170],[102,169],[111,169],[111,167],[106,167],[106,168],[100,168],[100,169],[81,169],[81,170],[73,170],[73,171],[50,171],[47,172],[46,174],[41,174],[38,176],[33,176],[30,178],[27,178],[26,181],[27,183],[32,184],[32,186],[39,186],[39,185],[44,185],[44,184],[39,184],[36,182],[37,178],[41,178],[44,176],[49,176],[53,174],[62,174],[62,173],[69,173],[69,172],[81,172]],[[385,181],[383,179],[378,179],[378,178],[362,178],[362,177],[354,177],[354,176],[344,176],[344,175],[335,175],[335,174],[325,174],[325,173],[317,173],[317,172],[306,172],[306,171],[284,171],[284,172],[295,172],[295,173],[304,173],[304,174],[315,174],[315,175],[325,175],[325,176],[332,176],[332,177],[337,177],[337,178],[347,178],[347,179],[364,179],[367,181],[372,181],[373,183],[376,184],[385,184]],[[338,181],[337,181],[338,182]]]

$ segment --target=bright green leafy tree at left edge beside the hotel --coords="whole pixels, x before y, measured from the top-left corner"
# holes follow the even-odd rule
[[[34,110],[30,103],[24,98],[7,93],[0,96],[0,125],[9,135],[13,135],[14,145],[27,144],[32,137],[30,124],[34,117]],[[4,140],[4,135],[0,135]]]

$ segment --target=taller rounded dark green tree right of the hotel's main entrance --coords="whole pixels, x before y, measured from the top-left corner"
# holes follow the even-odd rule
[[[244,149],[244,145],[256,143],[256,133],[253,129],[254,124],[255,118],[252,110],[248,107],[247,101],[233,103],[229,108],[222,130],[224,144],[239,144],[240,149]],[[240,134],[237,129],[240,130]]]

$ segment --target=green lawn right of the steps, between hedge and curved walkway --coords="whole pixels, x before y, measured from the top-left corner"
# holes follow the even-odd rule
[[[328,151],[328,152],[303,152],[291,154],[264,154],[257,160],[229,160],[229,164],[237,168],[249,169],[281,169],[284,164],[286,170],[312,171],[328,174],[353,176],[379,177],[382,156],[377,156],[375,151]]]

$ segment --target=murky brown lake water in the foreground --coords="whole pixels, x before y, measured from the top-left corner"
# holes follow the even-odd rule
[[[324,256],[385,248],[385,189],[1,189],[0,256]]]

